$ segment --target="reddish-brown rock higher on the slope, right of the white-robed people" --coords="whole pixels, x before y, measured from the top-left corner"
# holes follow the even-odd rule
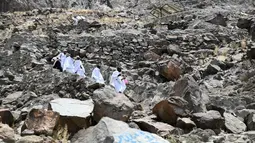
[[[168,80],[177,80],[181,77],[181,69],[177,64],[170,61],[168,63],[161,64],[159,67],[159,73]]]

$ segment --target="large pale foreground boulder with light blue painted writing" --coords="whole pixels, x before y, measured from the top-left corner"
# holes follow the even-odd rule
[[[133,129],[122,121],[104,117],[100,122],[87,130],[81,130],[71,139],[72,143],[168,143],[163,138],[138,129]]]

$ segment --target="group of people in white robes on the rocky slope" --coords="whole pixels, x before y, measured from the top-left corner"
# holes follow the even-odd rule
[[[85,68],[82,65],[80,57],[74,59],[66,51],[59,53],[52,58],[53,68],[59,69],[61,72],[69,72],[79,75],[79,78],[85,78]],[[100,72],[100,66],[96,66],[92,71],[92,79],[100,84],[105,84],[104,78]],[[121,75],[121,68],[117,68],[110,78],[110,85],[113,86],[116,92],[123,93],[126,89],[127,80]]]

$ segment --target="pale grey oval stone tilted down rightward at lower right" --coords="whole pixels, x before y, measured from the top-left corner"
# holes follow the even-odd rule
[[[233,116],[230,113],[224,113],[223,116],[225,118],[225,127],[231,133],[238,134],[246,130],[246,125],[237,117]]]

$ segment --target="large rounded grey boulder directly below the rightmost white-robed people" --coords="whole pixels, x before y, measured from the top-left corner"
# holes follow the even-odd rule
[[[133,112],[133,103],[124,95],[111,87],[105,87],[93,93],[93,119],[98,122],[102,117],[127,121]]]

